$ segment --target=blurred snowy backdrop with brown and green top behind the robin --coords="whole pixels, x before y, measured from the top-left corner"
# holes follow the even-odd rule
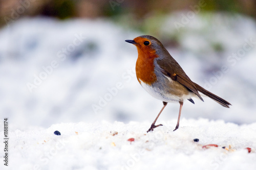
[[[0,112],[10,130],[153,122],[162,102],[137,82],[137,49],[124,41],[140,35],[158,38],[191,80],[232,104],[185,102],[181,118],[255,122],[255,2],[164,2],[0,1]],[[158,123],[178,110],[168,104]]]

